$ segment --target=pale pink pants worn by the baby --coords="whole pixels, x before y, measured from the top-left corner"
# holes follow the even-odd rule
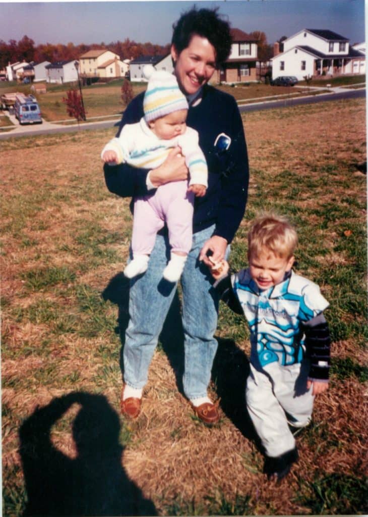
[[[153,195],[134,201],[132,251],[149,255],[156,233],[165,222],[169,230],[171,251],[189,253],[191,248],[194,194],[188,192],[188,181],[172,181],[158,187]]]

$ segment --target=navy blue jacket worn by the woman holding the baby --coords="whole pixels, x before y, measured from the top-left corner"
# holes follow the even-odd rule
[[[143,96],[144,92],[126,108],[117,136],[125,124],[134,124],[143,116]],[[201,102],[189,108],[187,125],[198,131],[199,145],[209,169],[207,192],[195,199],[193,232],[215,223],[214,234],[231,242],[244,216],[249,180],[243,123],[235,99],[205,85]],[[219,155],[214,147],[220,133],[231,138],[231,145],[223,155]],[[105,164],[104,173],[109,191],[122,197],[152,192],[146,186],[147,169]]]

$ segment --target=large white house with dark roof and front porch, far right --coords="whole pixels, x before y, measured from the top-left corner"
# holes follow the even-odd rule
[[[342,75],[365,72],[365,55],[340,34],[325,29],[303,29],[283,41],[283,52],[275,44],[272,78],[295,75]]]

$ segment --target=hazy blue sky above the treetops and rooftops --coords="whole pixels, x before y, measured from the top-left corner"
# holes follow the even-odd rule
[[[197,1],[198,7],[218,6],[232,27],[263,31],[268,43],[303,28],[329,29],[365,40],[364,0],[227,0]],[[166,44],[172,23],[194,2],[2,2],[0,38],[24,35],[39,43],[110,43],[130,38]]]

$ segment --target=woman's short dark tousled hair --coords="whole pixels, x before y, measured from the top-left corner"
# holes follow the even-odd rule
[[[230,25],[221,20],[217,14],[218,8],[199,9],[194,6],[184,12],[179,20],[173,24],[171,44],[180,54],[189,46],[191,37],[195,34],[210,41],[215,48],[216,64],[221,65],[229,57],[231,50]]]

